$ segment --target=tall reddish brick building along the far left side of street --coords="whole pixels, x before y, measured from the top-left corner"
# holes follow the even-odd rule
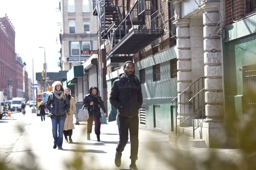
[[[15,30],[6,15],[0,18],[0,90],[6,100],[24,98],[24,62],[15,53]]]

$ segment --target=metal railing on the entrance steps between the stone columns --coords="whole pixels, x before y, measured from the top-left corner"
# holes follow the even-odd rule
[[[203,121],[203,118],[205,117],[204,79],[205,77],[199,78],[172,100],[172,104],[175,101],[175,135],[177,135],[177,129],[179,126],[181,127],[186,120],[192,119],[193,138],[195,139],[195,130],[201,126],[201,121]],[[192,107],[193,109],[191,109]],[[200,115],[202,115],[202,120],[199,120]],[[180,116],[179,119],[181,121],[179,124],[177,123],[178,116]],[[195,120],[197,121],[196,126]]]

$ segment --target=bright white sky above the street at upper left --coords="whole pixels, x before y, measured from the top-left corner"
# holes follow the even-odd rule
[[[35,81],[45,62],[47,72],[58,72],[60,57],[59,0],[0,0],[0,17],[7,14],[15,29],[15,53],[26,62],[28,77]],[[39,48],[39,46],[45,47]],[[32,62],[33,61],[33,62]],[[34,65],[34,66],[33,66]],[[33,69],[34,67],[34,69]]]

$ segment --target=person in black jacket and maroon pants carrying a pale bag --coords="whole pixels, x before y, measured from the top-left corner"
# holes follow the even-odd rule
[[[98,95],[98,88],[93,86],[89,89],[89,94],[83,100],[84,107],[88,108],[89,119],[87,120],[87,140],[91,140],[90,134],[92,133],[93,121],[94,121],[94,132],[97,136],[97,141],[100,141],[100,108],[106,115],[106,109],[101,97]]]

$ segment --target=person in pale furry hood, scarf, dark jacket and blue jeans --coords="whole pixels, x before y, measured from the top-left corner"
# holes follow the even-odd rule
[[[58,147],[59,150],[63,150],[63,127],[69,109],[69,98],[64,93],[61,82],[54,82],[52,87],[53,91],[48,97],[46,107],[51,112],[53,149]]]

